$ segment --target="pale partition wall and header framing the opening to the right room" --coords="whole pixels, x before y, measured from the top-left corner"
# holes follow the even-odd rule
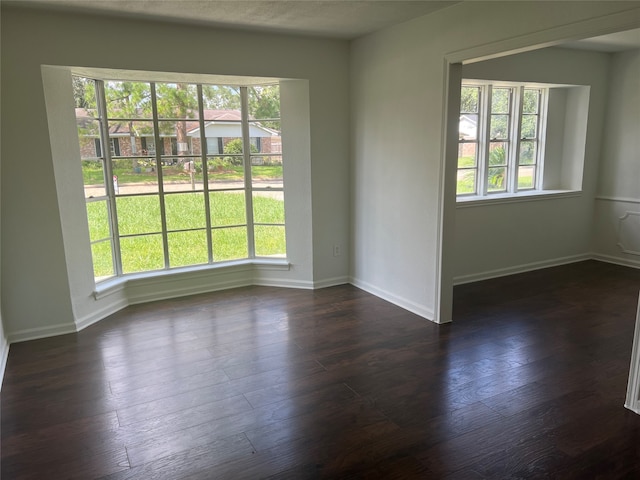
[[[427,318],[451,320],[446,299],[452,286],[446,279],[456,252],[454,228],[446,219],[456,214],[455,182],[442,169],[445,59],[463,61],[596,34],[611,24],[601,16],[624,10],[635,9],[615,22],[637,23],[637,7],[637,2],[464,2],[354,41],[353,282]],[[582,205],[567,208],[586,215]],[[583,250],[582,240],[572,241],[576,245],[563,248],[567,254]]]

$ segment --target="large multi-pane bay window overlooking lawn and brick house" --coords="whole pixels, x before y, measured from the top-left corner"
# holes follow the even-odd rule
[[[96,281],[286,256],[278,84],[74,84]]]

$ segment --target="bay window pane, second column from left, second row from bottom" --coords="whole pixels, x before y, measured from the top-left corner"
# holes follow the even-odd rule
[[[138,235],[162,231],[160,200],[157,195],[119,197],[118,229],[120,235]]]

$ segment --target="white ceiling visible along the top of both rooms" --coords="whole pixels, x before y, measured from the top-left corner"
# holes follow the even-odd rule
[[[0,0],[3,5],[353,39],[461,0]],[[640,48],[640,29],[562,44],[617,52]]]

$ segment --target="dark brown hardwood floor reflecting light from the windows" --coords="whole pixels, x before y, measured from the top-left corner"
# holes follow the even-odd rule
[[[11,346],[2,479],[640,478],[639,290],[589,261],[441,326],[352,286],[132,306]]]

